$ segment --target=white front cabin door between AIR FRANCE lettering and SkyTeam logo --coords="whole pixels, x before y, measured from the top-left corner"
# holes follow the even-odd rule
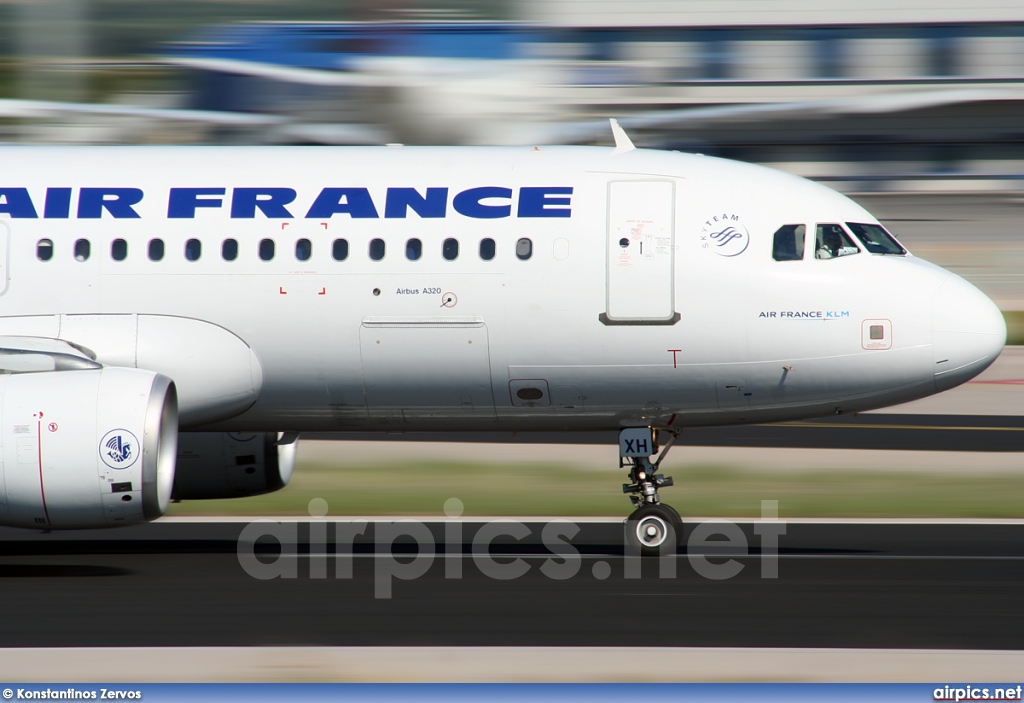
[[[605,324],[673,324],[675,183],[608,183]]]

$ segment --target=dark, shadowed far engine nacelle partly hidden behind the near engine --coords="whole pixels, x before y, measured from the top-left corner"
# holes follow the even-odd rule
[[[298,441],[278,433],[182,432],[174,500],[241,498],[284,488],[295,469]]]

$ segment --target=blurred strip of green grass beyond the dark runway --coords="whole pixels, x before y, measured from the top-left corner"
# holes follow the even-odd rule
[[[758,517],[778,500],[780,517],[1024,518],[1024,471],[775,471],[730,466],[673,468],[663,499],[684,516]],[[308,515],[324,498],[329,516],[443,517],[461,499],[467,516],[626,516],[625,480],[614,471],[558,464],[459,462],[300,465],[276,493],[174,503],[168,515]]]

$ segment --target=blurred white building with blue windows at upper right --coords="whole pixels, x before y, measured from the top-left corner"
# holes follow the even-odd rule
[[[1024,173],[1024,5],[994,0],[522,0],[563,50],[631,67],[592,103],[788,103],[663,137],[815,177]],[[581,41],[582,40],[582,41]],[[778,116],[777,118],[774,116]],[[1004,184],[1013,185],[1013,184]],[[1014,186],[1016,187],[1016,186]]]

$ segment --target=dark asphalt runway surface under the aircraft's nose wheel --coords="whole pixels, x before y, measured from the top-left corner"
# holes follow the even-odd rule
[[[378,522],[351,546],[348,521],[315,523],[311,540],[308,523],[275,524],[284,555],[274,539],[244,541],[261,555],[250,573],[243,522],[0,530],[0,647],[1024,649],[1024,522],[688,523],[677,556],[642,566],[615,522],[524,523],[528,536],[475,558],[481,531],[512,523]],[[461,538],[426,554],[445,529]],[[698,539],[729,529],[731,544]],[[393,538],[411,530],[419,557]]]

